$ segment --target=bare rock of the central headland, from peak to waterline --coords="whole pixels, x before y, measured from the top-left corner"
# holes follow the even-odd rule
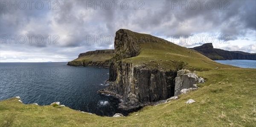
[[[122,59],[140,54],[140,43],[168,42],[148,35],[148,38],[138,39],[139,33],[120,29],[116,32],[115,53],[111,59],[110,78],[112,84],[99,93],[111,94],[122,98],[119,107],[131,109],[142,107],[150,102],[168,99],[174,96],[175,77],[177,71],[160,71],[144,68],[143,65],[133,65]]]

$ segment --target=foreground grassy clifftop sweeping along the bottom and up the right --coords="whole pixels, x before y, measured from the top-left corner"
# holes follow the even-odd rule
[[[256,69],[222,68],[198,75],[207,79],[199,90],[179,95],[178,100],[169,103],[144,107],[128,117],[101,117],[68,107],[29,108],[12,98],[0,102],[0,125],[256,127]],[[196,102],[186,105],[188,99]]]

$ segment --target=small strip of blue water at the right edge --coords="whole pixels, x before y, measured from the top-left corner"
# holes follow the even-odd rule
[[[219,62],[225,65],[233,65],[240,68],[256,68],[256,60],[233,59],[233,60],[215,60],[215,62]]]

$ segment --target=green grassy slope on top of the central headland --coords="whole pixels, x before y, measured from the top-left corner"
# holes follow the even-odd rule
[[[181,47],[173,43],[159,44],[147,42],[141,44],[140,46],[142,48],[138,56],[124,59],[124,61],[133,62],[137,65],[144,63],[148,66],[162,68],[163,70],[175,70],[175,67],[177,67],[179,64],[185,64],[185,68],[191,71],[211,70],[217,67],[233,67],[231,65],[219,64],[198,53],[197,51]]]

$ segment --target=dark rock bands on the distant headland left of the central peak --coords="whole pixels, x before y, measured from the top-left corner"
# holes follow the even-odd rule
[[[92,55],[94,55],[94,57],[97,57],[104,54],[112,55],[114,54],[114,50],[107,49],[107,50],[87,51],[86,53],[79,54],[77,59],[74,59],[73,61],[68,62],[67,65],[83,66],[83,67],[109,67],[111,62],[110,59],[103,60],[103,61],[101,61],[101,59],[96,59],[91,61],[79,60],[82,58],[91,57]]]

